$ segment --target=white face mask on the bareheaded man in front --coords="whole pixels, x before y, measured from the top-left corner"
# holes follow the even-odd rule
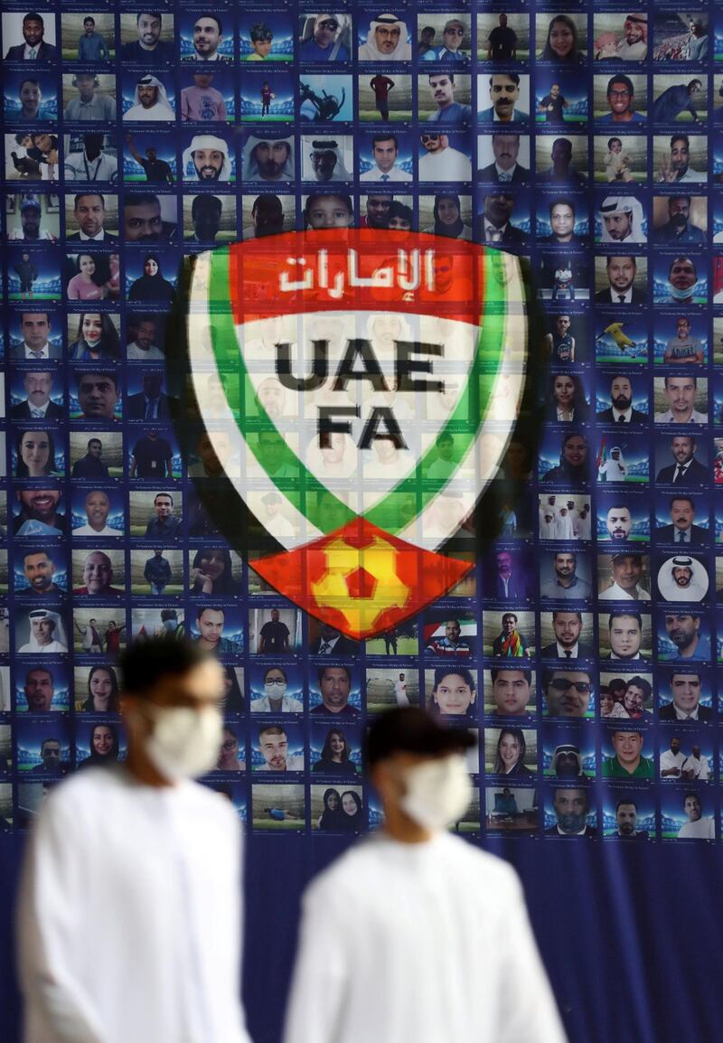
[[[143,714],[153,721],[146,753],[165,778],[173,782],[196,778],[216,765],[223,738],[223,717],[216,706],[194,710],[147,703]]]

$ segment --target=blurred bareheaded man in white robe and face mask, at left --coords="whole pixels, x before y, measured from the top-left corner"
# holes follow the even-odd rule
[[[30,841],[24,1043],[249,1043],[239,820],[190,781],[218,758],[223,670],[164,638],[121,668],[125,762],[55,787]]]

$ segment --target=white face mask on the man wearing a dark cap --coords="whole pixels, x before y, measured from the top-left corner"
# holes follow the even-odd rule
[[[444,829],[469,806],[472,781],[461,754],[408,768],[404,778],[407,792],[400,801],[402,810],[425,829]]]

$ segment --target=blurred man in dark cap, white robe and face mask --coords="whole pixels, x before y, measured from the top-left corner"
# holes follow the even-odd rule
[[[388,1039],[391,1024],[404,1025],[404,1039],[435,1043],[450,1039],[451,1025],[485,1043],[564,1040],[516,874],[448,832],[471,801],[464,751],[474,745],[465,729],[442,727],[419,707],[375,720],[365,755],[382,825],[304,896],[286,1043]],[[339,795],[342,815],[355,796]],[[511,965],[525,968],[513,1008],[493,1000]]]

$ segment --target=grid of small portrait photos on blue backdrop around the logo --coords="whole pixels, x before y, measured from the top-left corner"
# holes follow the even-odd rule
[[[378,825],[364,728],[409,703],[479,738],[462,834],[720,839],[723,15],[530,6],[3,0],[2,828],[123,758],[118,656],[162,634],[223,664],[203,781],[252,831]],[[225,541],[244,462],[166,368],[188,259],[345,227],[520,257],[545,372],[474,568],[366,642]]]

